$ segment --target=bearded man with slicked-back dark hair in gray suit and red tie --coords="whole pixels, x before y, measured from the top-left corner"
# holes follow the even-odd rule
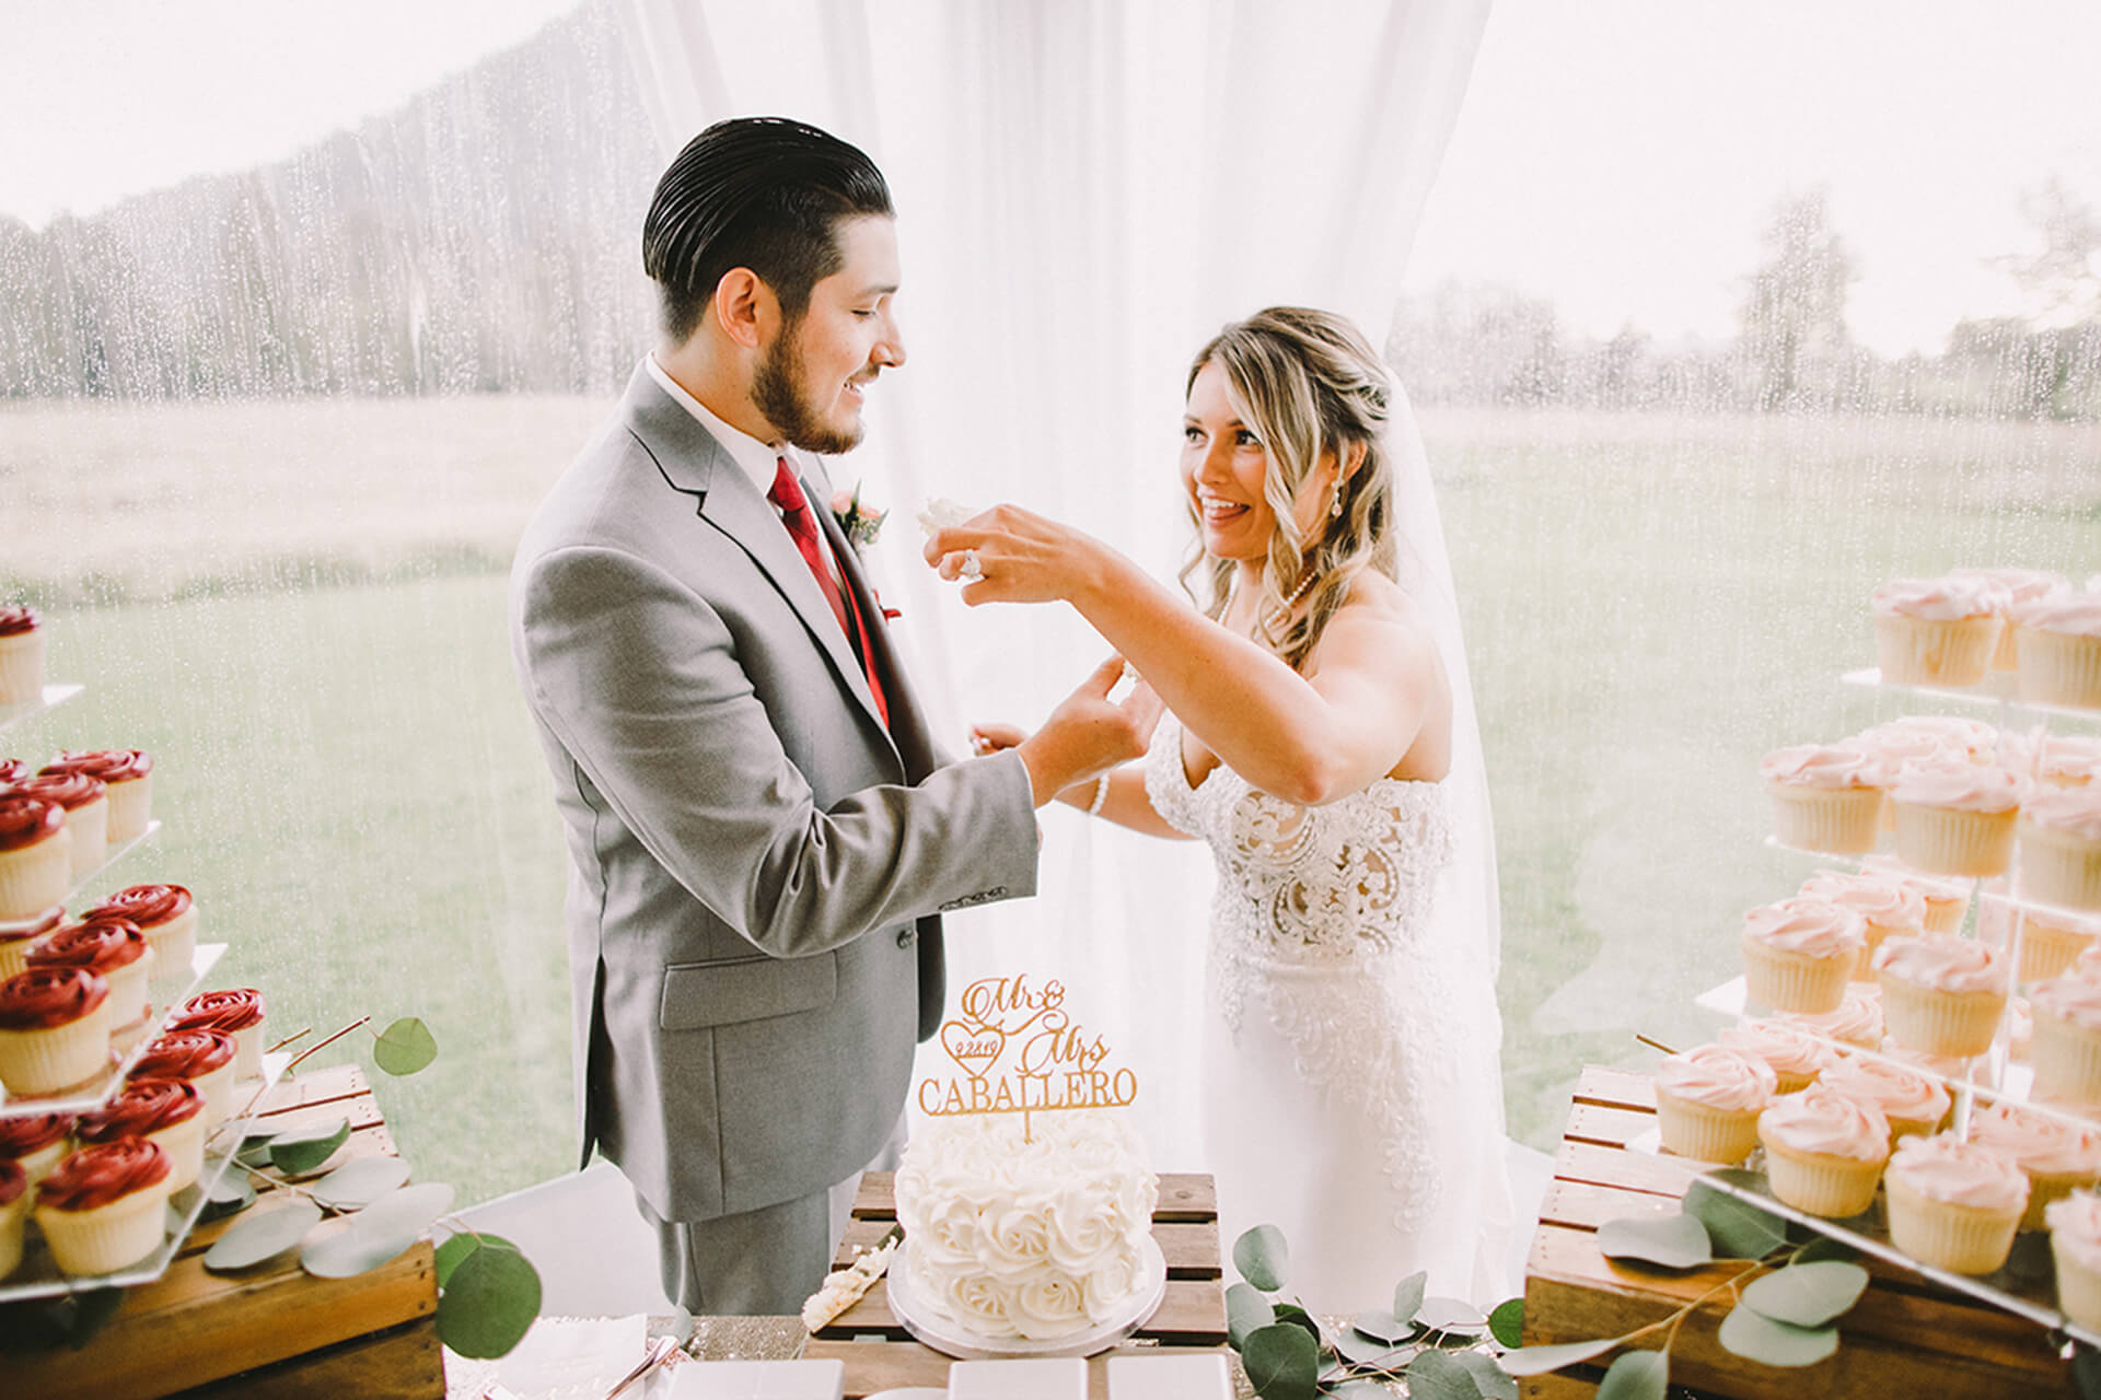
[[[710,126],[643,225],[662,338],[511,573],[569,850],[584,1161],[691,1312],[790,1314],[895,1150],[941,917],[1036,892],[1034,808],[1143,751],[1105,667],[1019,749],[943,762],[826,504],[903,363],[882,174]]]

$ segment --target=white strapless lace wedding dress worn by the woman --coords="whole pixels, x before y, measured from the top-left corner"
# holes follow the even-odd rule
[[[1145,793],[1219,865],[1198,1075],[1227,1251],[1282,1228],[1313,1312],[1387,1308],[1416,1270],[1431,1295],[1509,1297],[1502,1033],[1448,913],[1445,783],[1307,808],[1221,764],[1191,789],[1164,716]]]

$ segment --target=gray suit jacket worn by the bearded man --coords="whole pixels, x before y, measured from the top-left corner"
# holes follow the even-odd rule
[[[664,1219],[847,1180],[941,1018],[941,909],[1036,892],[1013,754],[939,766],[800,464],[891,709],[779,514],[639,367],[511,571],[569,850],[582,1152]]]

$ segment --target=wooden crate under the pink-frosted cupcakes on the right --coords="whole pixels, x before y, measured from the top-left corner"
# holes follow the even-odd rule
[[[1599,1253],[1603,1222],[1672,1211],[1698,1175],[1683,1161],[1626,1148],[1653,1125],[1656,1087],[1645,1075],[1597,1066],[1582,1073],[1525,1264],[1525,1345],[1624,1335],[1670,1316],[1746,1268],[1729,1259],[1670,1272],[1616,1264]],[[1742,1400],[2074,1394],[2069,1369],[2042,1327],[1893,1264],[1864,1264],[1874,1282],[1840,1318],[1836,1356],[1782,1371],[1725,1352],[1714,1339],[1731,1301],[1723,1291],[1689,1314],[1670,1343],[1672,1383]],[[1660,1333],[1651,1333],[1635,1345],[1658,1343]],[[1527,1400],[1590,1396],[1609,1356],[1599,1360],[1599,1366],[1527,1379],[1521,1394]]]

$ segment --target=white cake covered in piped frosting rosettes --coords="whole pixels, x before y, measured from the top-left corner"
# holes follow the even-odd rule
[[[969,1115],[914,1133],[897,1171],[903,1291],[985,1354],[1107,1345],[1151,1314],[1166,1278],[1158,1180],[1111,1110],[1027,1119]]]

